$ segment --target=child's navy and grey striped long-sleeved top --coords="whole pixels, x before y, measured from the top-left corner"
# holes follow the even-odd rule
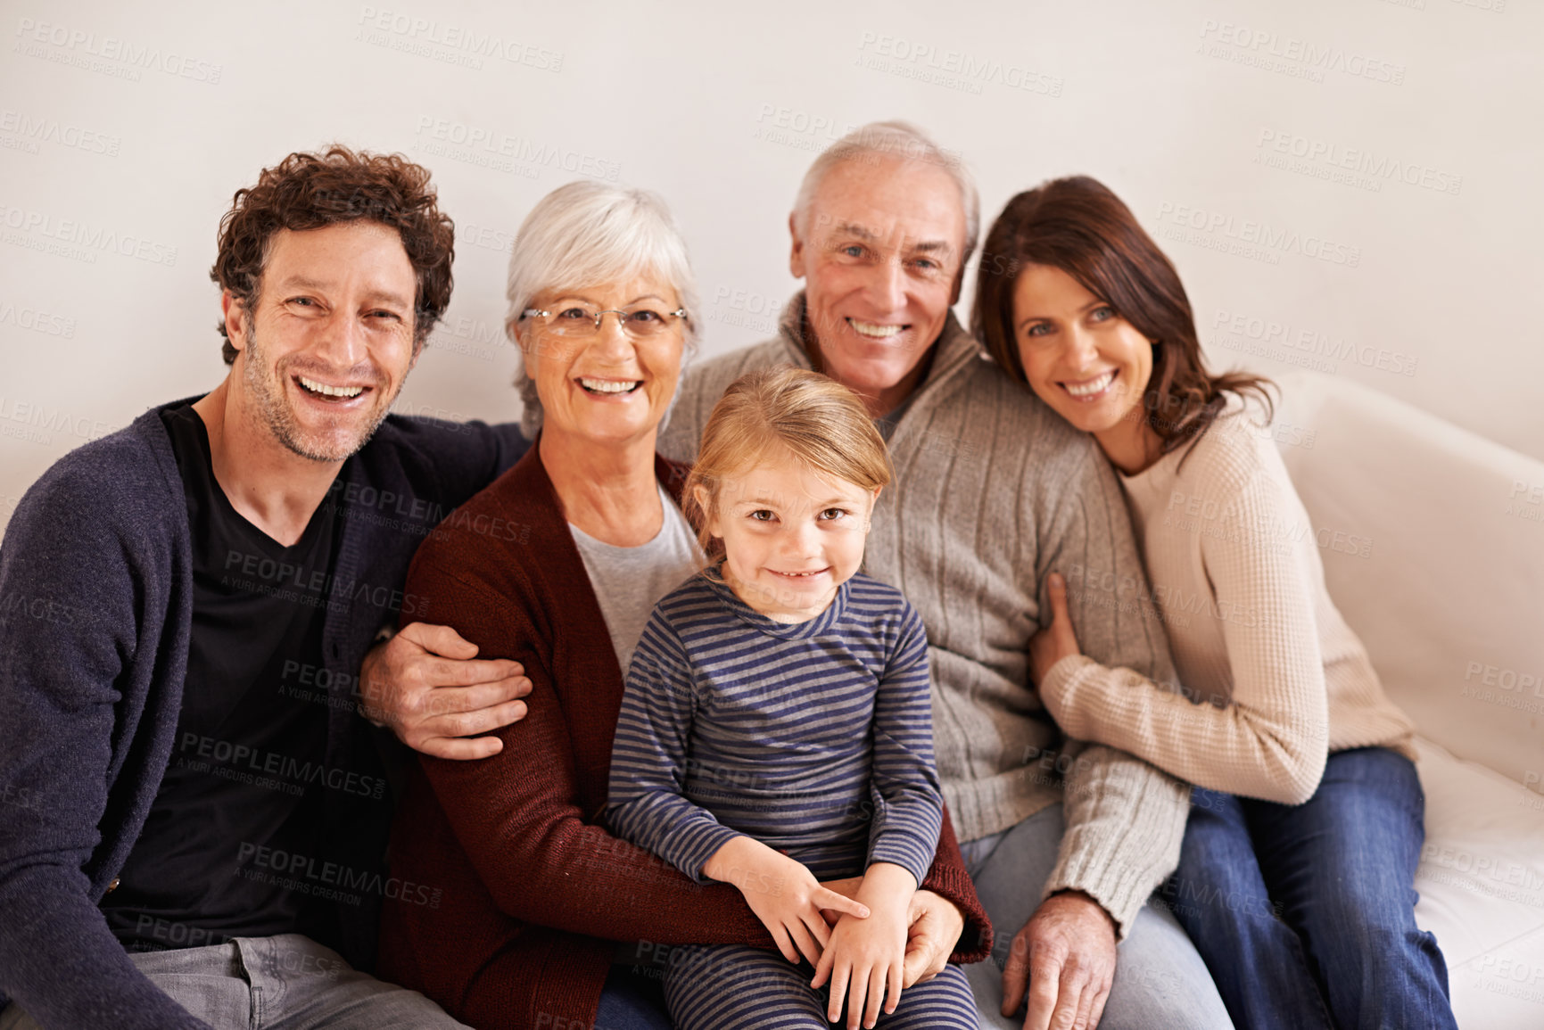
[[[698,574],[644,627],[616,721],[607,818],[687,876],[741,834],[817,879],[903,866],[920,883],[943,801],[928,641],[862,573],[784,624]]]

